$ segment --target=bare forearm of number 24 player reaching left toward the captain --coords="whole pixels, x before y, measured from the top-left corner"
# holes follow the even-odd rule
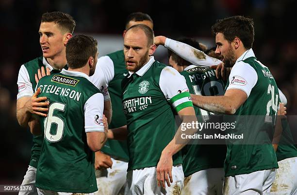
[[[191,94],[195,106],[218,114],[234,114],[236,108],[228,96],[201,96]]]

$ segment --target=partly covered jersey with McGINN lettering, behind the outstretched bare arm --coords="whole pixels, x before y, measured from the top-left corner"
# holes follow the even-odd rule
[[[197,95],[224,95],[225,84],[217,79],[213,69],[196,65],[188,66],[181,72],[184,76],[189,92]],[[209,111],[194,106],[198,121],[219,122],[223,116],[214,116]],[[219,120],[219,121],[218,121]],[[200,170],[224,167],[226,145],[189,144],[182,148],[182,169],[185,177]]]

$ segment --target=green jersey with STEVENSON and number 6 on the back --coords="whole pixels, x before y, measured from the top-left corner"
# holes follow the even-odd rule
[[[39,97],[48,97],[48,116],[41,117],[43,144],[36,174],[36,187],[56,192],[97,191],[94,152],[88,132],[104,132],[104,98],[89,77],[62,70],[38,82]]]

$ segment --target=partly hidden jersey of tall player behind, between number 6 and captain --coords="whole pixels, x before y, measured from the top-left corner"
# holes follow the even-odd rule
[[[97,67],[101,67],[102,72],[95,73],[92,77],[104,77],[111,97],[113,117],[109,128],[124,126],[126,117],[122,106],[121,82],[128,75],[128,71],[123,50],[100,57]],[[117,159],[129,160],[127,141],[107,140],[101,151]]]

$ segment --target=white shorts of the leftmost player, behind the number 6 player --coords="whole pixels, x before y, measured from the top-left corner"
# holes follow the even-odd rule
[[[24,180],[21,184],[24,186],[33,185],[33,192],[22,191],[19,192],[18,195],[37,195],[37,189],[35,187],[36,171],[37,169],[35,167],[29,165],[26,175],[24,176]]]

